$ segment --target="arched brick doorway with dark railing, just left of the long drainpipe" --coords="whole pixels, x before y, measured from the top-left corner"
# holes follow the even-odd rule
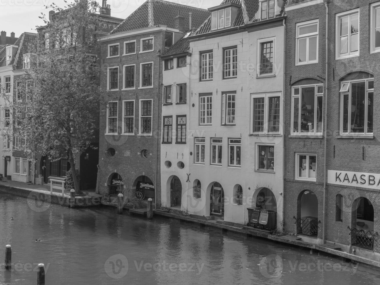
[[[313,191],[299,193],[296,224],[297,234],[318,236],[318,198]]]

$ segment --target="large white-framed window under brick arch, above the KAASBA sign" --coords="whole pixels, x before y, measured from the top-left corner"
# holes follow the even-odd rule
[[[374,79],[344,81],[340,87],[340,133],[373,133]]]

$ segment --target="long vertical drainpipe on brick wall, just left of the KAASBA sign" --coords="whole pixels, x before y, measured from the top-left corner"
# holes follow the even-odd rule
[[[325,100],[325,160],[324,160],[324,175],[323,175],[323,226],[322,226],[322,244],[326,241],[326,179],[327,179],[327,166],[326,166],[326,152],[327,152],[327,94],[328,94],[328,52],[329,52],[329,3],[330,0],[323,0],[326,6],[326,79],[325,79],[325,86],[326,86],[326,100]]]

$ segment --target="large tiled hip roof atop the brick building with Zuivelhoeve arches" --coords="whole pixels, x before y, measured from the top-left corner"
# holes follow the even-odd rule
[[[150,8],[150,3],[152,3],[152,9]],[[120,25],[114,28],[111,34],[155,25],[167,25],[170,28],[176,28],[174,25],[174,18],[176,16],[183,16],[183,25],[188,28],[189,12],[192,13],[193,27],[199,27],[204,19],[210,15],[210,12],[205,9],[194,8],[163,0],[147,0]]]

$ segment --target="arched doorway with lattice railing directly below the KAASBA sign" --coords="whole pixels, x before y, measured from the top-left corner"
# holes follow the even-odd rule
[[[374,247],[374,207],[364,197],[357,198],[351,211],[351,244],[366,249]]]

